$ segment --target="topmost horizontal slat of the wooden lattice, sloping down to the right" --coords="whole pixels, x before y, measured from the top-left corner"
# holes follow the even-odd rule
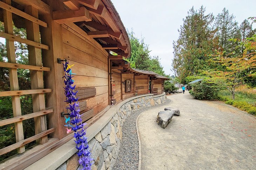
[[[25,18],[25,19],[27,19],[29,21],[32,21],[34,23],[37,23],[37,24],[39,24],[39,25],[41,25],[43,27],[47,27],[47,23],[45,23],[45,22],[43,22],[43,21],[41,21],[41,20],[31,16],[31,15],[28,15],[25,12],[22,12],[21,10],[16,9],[16,8],[14,8],[14,7],[12,7],[12,6],[10,6],[10,5],[2,2],[2,1],[0,1],[0,8],[8,10],[9,12],[11,12],[13,14],[19,15],[19,16],[21,16],[21,17],[23,17],[23,18]]]

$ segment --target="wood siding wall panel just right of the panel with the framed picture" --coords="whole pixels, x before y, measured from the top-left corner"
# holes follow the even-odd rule
[[[137,95],[148,94],[149,79],[148,75],[135,76],[135,93]]]

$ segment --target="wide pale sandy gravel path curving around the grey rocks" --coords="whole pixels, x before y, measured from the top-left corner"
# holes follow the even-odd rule
[[[167,98],[181,115],[165,129],[156,117],[166,106],[143,112],[137,121],[142,170],[256,169],[256,117],[193,99],[188,91]]]

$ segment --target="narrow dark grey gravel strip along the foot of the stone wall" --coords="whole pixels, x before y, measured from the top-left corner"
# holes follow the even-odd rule
[[[170,99],[166,99],[166,102],[159,106],[167,105],[171,103]],[[135,170],[139,165],[139,142],[136,131],[136,119],[140,113],[156,108],[159,106],[143,107],[134,111],[124,122],[122,126],[122,142],[119,149],[119,155],[116,159],[116,163],[113,170]]]

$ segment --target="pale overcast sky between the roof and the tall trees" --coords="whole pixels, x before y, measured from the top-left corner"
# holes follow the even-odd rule
[[[217,16],[226,7],[229,14],[236,16],[240,23],[250,16],[256,16],[254,0],[112,0],[121,16],[124,26],[133,28],[135,36],[144,37],[144,42],[152,50],[151,56],[159,56],[166,74],[173,74],[171,60],[173,58],[173,40],[178,39],[178,29],[188,10],[194,6],[206,7],[206,14]],[[256,24],[253,25],[253,28]]]

